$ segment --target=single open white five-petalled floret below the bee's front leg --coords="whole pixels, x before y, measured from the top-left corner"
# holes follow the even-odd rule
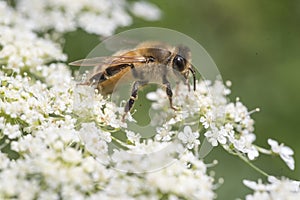
[[[194,148],[194,146],[199,145],[200,141],[198,140],[199,133],[193,132],[191,127],[185,126],[183,132],[178,133],[178,139],[180,139],[184,144],[187,145],[188,149]]]

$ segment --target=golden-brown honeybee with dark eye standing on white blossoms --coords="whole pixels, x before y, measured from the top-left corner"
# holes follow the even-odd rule
[[[170,74],[183,80],[188,86],[189,73],[193,76],[193,89],[196,90],[195,69],[191,64],[191,52],[188,47],[170,46],[162,42],[143,42],[134,49],[119,51],[109,57],[95,57],[71,62],[74,66],[93,66],[94,70],[82,83],[92,85],[102,94],[111,94],[120,79],[133,81],[131,96],[127,101],[124,111],[126,114],[131,110],[137,99],[140,87],[149,82],[163,85],[169,99],[170,107],[173,106],[173,92],[168,80]],[[125,76],[126,75],[126,76]]]

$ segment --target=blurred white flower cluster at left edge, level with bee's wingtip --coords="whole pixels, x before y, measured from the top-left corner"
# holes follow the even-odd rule
[[[22,34],[20,34],[22,32]],[[60,46],[53,41],[39,38],[30,30],[0,25],[0,59],[7,68],[19,72],[37,67],[53,60],[66,60]]]

